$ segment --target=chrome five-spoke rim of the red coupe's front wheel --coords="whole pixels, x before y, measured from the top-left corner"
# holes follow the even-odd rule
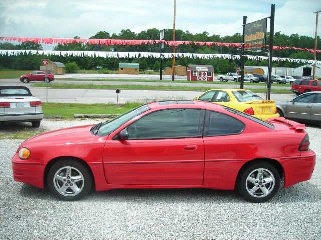
[[[56,171],[53,183],[56,190],[63,196],[76,196],[84,188],[84,176],[71,166],[65,166]]]

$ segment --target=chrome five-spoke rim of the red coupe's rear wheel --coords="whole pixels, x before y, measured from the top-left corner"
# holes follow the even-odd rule
[[[252,171],[246,178],[247,192],[256,198],[269,195],[275,186],[275,178],[271,171],[259,168]]]

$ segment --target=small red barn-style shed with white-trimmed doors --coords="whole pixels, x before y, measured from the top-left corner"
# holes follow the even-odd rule
[[[210,65],[188,65],[188,81],[213,81],[214,67]]]

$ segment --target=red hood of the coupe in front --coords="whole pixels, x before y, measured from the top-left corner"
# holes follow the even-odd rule
[[[27,139],[21,145],[28,148],[34,145],[53,146],[91,143],[94,139],[100,138],[90,132],[92,126],[77,126],[46,132]]]

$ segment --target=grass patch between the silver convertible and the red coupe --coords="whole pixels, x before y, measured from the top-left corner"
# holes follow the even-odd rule
[[[122,114],[142,104],[139,102],[118,105],[43,102],[42,109],[45,116],[59,115],[63,119],[73,119],[74,114]]]

